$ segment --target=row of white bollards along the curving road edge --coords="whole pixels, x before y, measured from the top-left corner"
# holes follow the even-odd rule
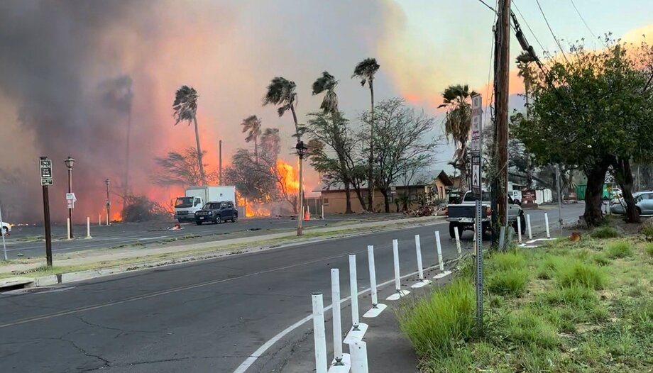
[[[456,230],[456,233],[457,230]],[[459,236],[456,234],[456,237]],[[435,232],[437,260],[440,273],[434,279],[439,279],[451,274],[444,270],[442,259],[442,248],[440,243],[439,232]],[[456,247],[460,255],[460,242],[456,240]],[[417,256],[417,274],[419,282],[412,287],[422,287],[432,282],[424,277],[424,267],[422,263],[422,244],[419,235],[415,235],[415,255]],[[399,241],[393,240],[393,265],[395,272],[395,294],[388,296],[389,301],[397,300],[410,294],[410,291],[401,288],[401,273],[399,265]],[[374,247],[368,246],[368,265],[370,269],[370,292],[372,307],[363,314],[364,318],[375,318],[380,315],[387,306],[378,302],[378,289],[376,283],[376,269],[374,262]],[[368,373],[367,346],[363,342],[368,324],[361,323],[358,308],[358,277],[356,273],[356,255],[349,255],[349,286],[351,292],[351,329],[346,334],[344,340],[342,335],[342,317],[341,317],[341,294],[340,294],[340,273],[339,269],[331,269],[331,308],[333,321],[333,346],[334,358],[331,364],[327,359],[327,338],[324,326],[324,302],[322,294],[312,294],[313,301],[313,328],[315,343],[315,365],[316,372],[351,372]],[[349,345],[349,354],[344,353],[343,345]]]

